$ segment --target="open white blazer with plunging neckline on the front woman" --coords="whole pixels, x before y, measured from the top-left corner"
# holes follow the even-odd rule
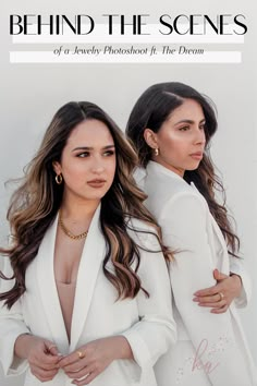
[[[123,335],[131,345],[135,361],[113,361],[90,385],[157,385],[152,365],[175,340],[164,258],[161,253],[140,250],[138,275],[150,298],[146,298],[140,291],[135,299],[117,301],[117,290],[102,272],[106,243],[99,228],[99,213],[100,206],[91,220],[81,258],[70,345],[53,274],[57,218],[45,234],[36,258],[27,268],[26,292],[11,311],[1,305],[0,360],[7,376],[21,374],[26,370],[25,386],[37,386],[41,383],[30,373],[27,361],[14,355],[15,340],[24,333],[53,341],[62,354],[98,338]],[[131,226],[134,229],[150,229],[138,220],[131,220]],[[155,251],[158,249],[155,236],[130,232],[144,248]],[[109,268],[112,269],[111,263]],[[12,274],[10,264],[5,264],[5,273]],[[13,282],[1,281],[1,292],[13,286]],[[57,376],[45,385],[66,386],[71,385],[71,382],[72,379],[59,371]]]

